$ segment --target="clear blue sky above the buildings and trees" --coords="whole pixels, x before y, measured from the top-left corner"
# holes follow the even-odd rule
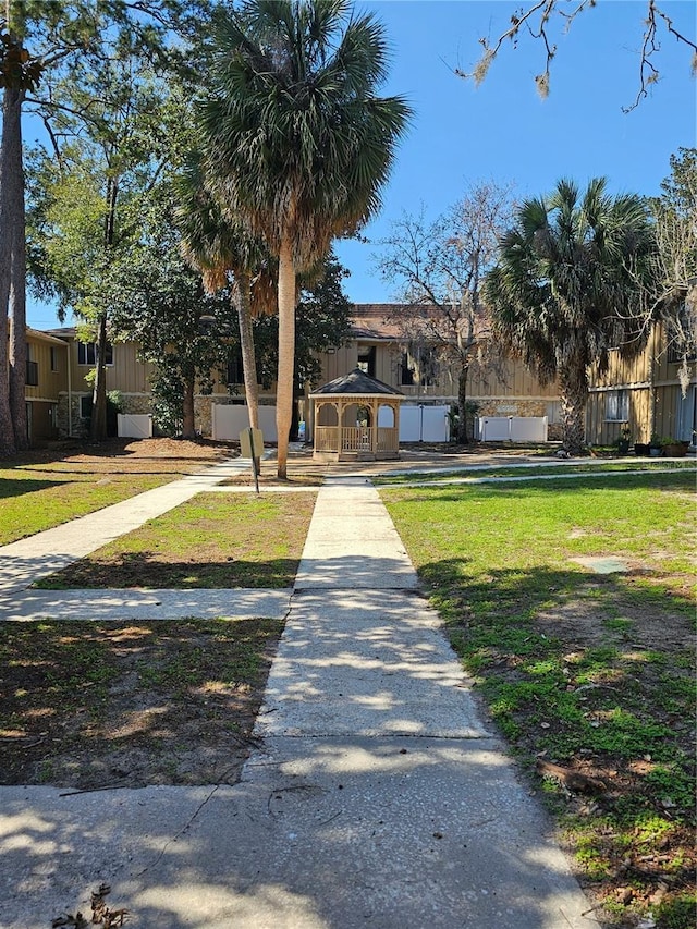
[[[541,100],[534,76],[543,70],[540,42],[522,36],[506,44],[477,88],[454,75],[479,57],[478,39],[494,40],[511,13],[531,0],[375,0],[357,3],[377,14],[392,47],[384,94],[401,94],[415,110],[386,186],[380,215],[364,230],[369,240],[339,243],[351,271],[345,291],[355,303],[382,303],[395,294],[375,271],[371,256],[404,211],[421,205],[436,219],[478,181],[513,184],[518,197],[548,192],[562,176],[585,184],[608,178],[610,190],[658,194],[670,156],[697,146],[697,83],[689,49],[665,34],[656,63],[661,81],[638,108],[623,113],[638,89],[638,50],[646,0],[598,0],[564,34],[555,27],[551,90]],[[571,9],[577,2],[566,3]],[[662,0],[675,27],[697,35],[693,0]],[[29,301],[30,302],[30,301]],[[30,326],[56,326],[50,309],[29,306]]]

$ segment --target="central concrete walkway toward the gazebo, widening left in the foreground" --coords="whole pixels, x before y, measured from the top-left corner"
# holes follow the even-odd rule
[[[188,591],[191,592],[191,591]],[[0,789],[0,926],[597,927],[365,478],[319,491],[235,786]]]

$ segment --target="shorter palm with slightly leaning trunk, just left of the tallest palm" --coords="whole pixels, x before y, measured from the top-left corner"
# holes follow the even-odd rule
[[[186,261],[203,276],[208,293],[235,281],[233,300],[240,325],[240,349],[249,425],[259,428],[259,388],[252,319],[274,311],[276,276],[259,240],[253,239],[240,223],[223,219],[218,205],[206,190],[200,158],[192,154],[178,178],[178,225],[182,232],[182,252]]]

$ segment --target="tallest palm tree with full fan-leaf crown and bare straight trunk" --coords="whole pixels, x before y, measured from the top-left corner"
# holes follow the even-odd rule
[[[216,36],[201,107],[207,176],[279,260],[278,475],[293,406],[296,274],[378,209],[409,108],[379,98],[381,26],[347,0],[247,0]]]

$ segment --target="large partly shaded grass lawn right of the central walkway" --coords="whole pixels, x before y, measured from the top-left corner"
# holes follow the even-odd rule
[[[596,915],[692,929],[694,472],[381,496]]]

